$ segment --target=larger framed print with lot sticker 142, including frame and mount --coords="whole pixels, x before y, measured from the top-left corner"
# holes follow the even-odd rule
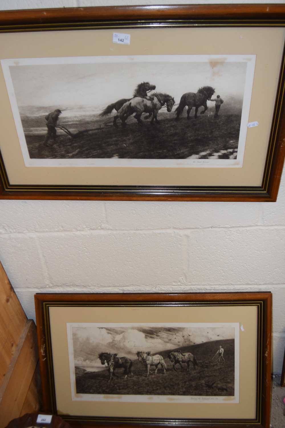
[[[285,5],[0,12],[0,198],[275,201]]]

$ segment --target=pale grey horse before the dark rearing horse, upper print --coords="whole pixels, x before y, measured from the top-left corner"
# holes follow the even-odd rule
[[[150,123],[153,125],[154,119],[156,123],[157,113],[162,108],[162,106],[166,105],[167,111],[170,112],[172,110],[173,105],[175,104],[174,98],[168,94],[162,94],[161,92],[155,92],[152,94],[153,101],[147,100],[145,98],[135,97],[130,101],[127,101],[118,111],[118,115],[114,116],[113,125],[118,128],[116,123],[117,119],[120,118],[122,121],[122,127],[126,126],[126,119],[133,113],[135,113],[135,119],[138,121],[138,125],[143,125],[141,121],[142,113],[149,113],[148,119],[151,115],[153,115]]]

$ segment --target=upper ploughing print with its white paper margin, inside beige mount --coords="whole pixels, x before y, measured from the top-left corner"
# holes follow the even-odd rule
[[[242,166],[253,57],[1,64],[27,166],[223,167]]]

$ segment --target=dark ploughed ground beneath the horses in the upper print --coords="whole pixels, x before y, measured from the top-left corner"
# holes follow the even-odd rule
[[[185,159],[198,155],[208,159],[215,155],[219,159],[229,159],[238,149],[241,116],[238,114],[191,116],[184,115],[178,122],[174,113],[159,112],[159,124],[143,121],[139,127],[137,121],[130,117],[126,128],[112,126],[112,116],[102,121],[90,116],[69,121],[68,129],[73,133],[83,129],[100,130],[82,134],[72,139],[58,130],[58,137],[53,147],[44,146],[44,134],[36,135],[26,131],[26,143],[30,158],[80,159],[80,158],[125,158],[125,159]],[[60,119],[65,125],[64,117]],[[50,141],[51,142],[51,141]],[[202,155],[200,155],[202,153]]]

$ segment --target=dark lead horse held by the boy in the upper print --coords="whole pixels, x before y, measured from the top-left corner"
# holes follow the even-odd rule
[[[207,100],[210,100],[214,95],[214,88],[212,86],[203,86],[203,88],[199,88],[196,94],[194,92],[186,92],[180,98],[179,106],[176,108],[176,119],[179,120],[179,116],[184,110],[185,106],[188,106],[187,110],[187,119],[190,119],[189,115],[192,107],[195,107],[195,119],[197,119],[198,108],[203,106],[204,110],[200,112],[200,114],[204,114],[207,107]]]

